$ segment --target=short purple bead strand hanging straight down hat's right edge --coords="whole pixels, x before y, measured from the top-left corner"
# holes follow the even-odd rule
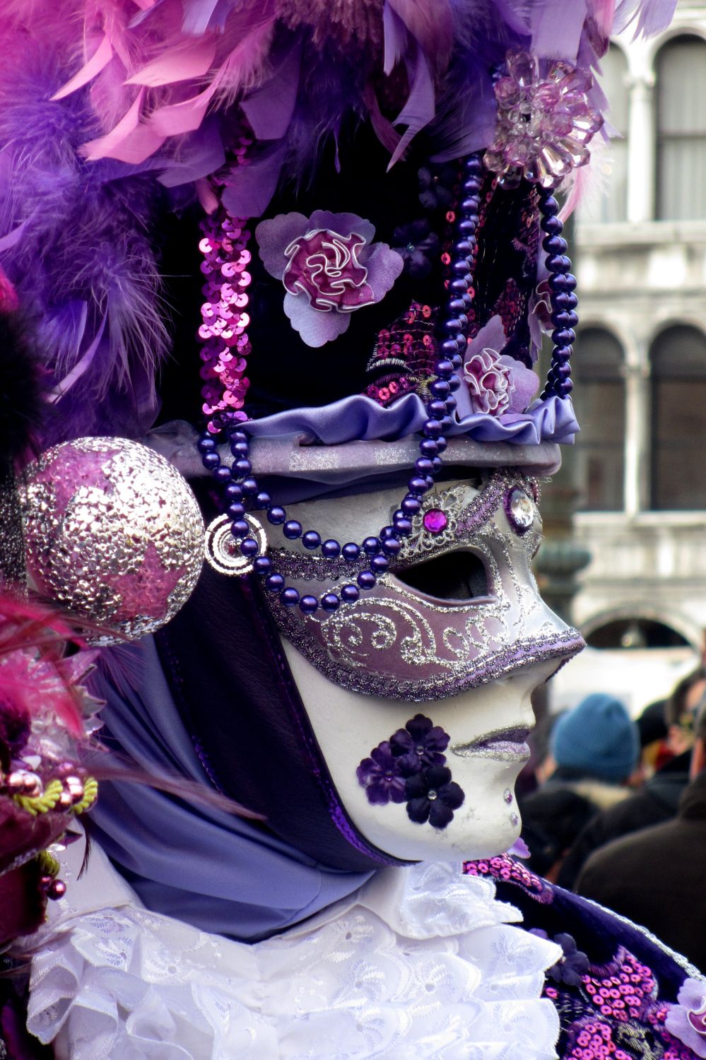
[[[566,240],[562,232],[564,225],[559,218],[559,202],[550,189],[540,189],[540,226],[545,233],[542,246],[547,252],[546,266],[549,272],[549,301],[551,322],[554,330],[551,341],[551,367],[547,373],[547,384],[542,401],[551,394],[566,398],[572,389],[569,359],[576,339],[579,317],[576,312],[578,299],[575,294],[576,277],[571,275],[571,262],[566,257]]]

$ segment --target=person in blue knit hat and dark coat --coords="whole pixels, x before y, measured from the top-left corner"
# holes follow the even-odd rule
[[[549,747],[555,767],[522,799],[522,834],[530,868],[555,882],[579,832],[630,794],[624,784],[637,765],[639,737],[619,700],[594,692],[558,719]]]

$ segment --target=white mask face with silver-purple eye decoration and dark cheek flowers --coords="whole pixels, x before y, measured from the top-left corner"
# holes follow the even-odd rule
[[[534,724],[531,692],[583,643],[543,603],[529,568],[541,540],[532,484],[504,473],[438,491],[419,522],[441,506],[447,532],[429,520],[426,540],[422,526],[369,603],[354,604],[348,617],[341,606],[333,621],[292,615],[281,626],[347,812],[369,843],[406,861],[489,856],[512,845],[520,827],[514,782]],[[387,522],[395,497],[386,491],[290,511],[338,541],[359,541]],[[437,589],[431,563],[439,559]],[[308,580],[294,582],[317,591],[313,571],[296,567],[305,562],[295,554],[292,573]],[[421,579],[416,566],[425,568]],[[389,615],[401,613],[395,626]],[[419,652],[412,615],[427,637]],[[338,631],[333,639],[328,622]],[[342,644],[342,654],[332,644]]]

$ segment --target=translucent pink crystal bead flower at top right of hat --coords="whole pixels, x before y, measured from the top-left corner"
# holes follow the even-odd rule
[[[587,98],[593,77],[563,61],[542,76],[539,60],[519,49],[509,51],[506,61],[507,76],[494,86],[495,140],[483,161],[505,187],[516,188],[524,177],[554,188],[585,165],[586,144],[603,124]]]

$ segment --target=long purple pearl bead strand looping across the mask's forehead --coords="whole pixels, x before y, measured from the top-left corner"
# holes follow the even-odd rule
[[[419,444],[420,455],[414,461],[413,473],[407,483],[408,492],[392,515],[392,525],[383,527],[375,536],[366,537],[361,544],[348,542],[342,547],[333,538],[321,540],[316,530],[304,530],[297,519],[287,518],[286,510],[272,502],[269,494],[260,489],[252,477],[250,463],[250,439],[245,424],[237,421],[226,423],[226,434],[233,455],[231,467],[222,463],[217,445],[212,435],[205,431],[197,447],[204,466],[211,472],[223,487],[225,511],[231,523],[231,533],[240,542],[241,553],[252,560],[255,573],[264,579],[265,589],[277,594],[285,607],[296,607],[304,615],[314,615],[319,608],[325,615],[337,611],[341,601],[354,602],[360,589],[370,590],[377,578],[389,567],[390,558],[398,554],[402,537],[411,533],[412,517],[422,508],[422,497],[434,485],[435,477],[441,471],[441,457],[446,448],[445,435],[452,426],[452,413],[456,408],[454,392],[461,385],[457,371],[463,365],[463,353],[467,343],[470,326],[469,313],[472,308],[473,254],[476,245],[478,208],[482,183],[481,154],[474,154],[463,162],[462,194],[456,212],[455,242],[451,261],[448,300],[442,316],[442,337],[439,343],[439,359],[435,365],[435,378],[429,385],[429,400],[426,404],[427,420],[422,428]],[[245,518],[246,509],[264,510],[272,526],[281,526],[289,541],[301,538],[304,548],[320,550],[321,554],[334,559],[341,555],[353,564],[361,559],[366,566],[355,571],[349,583],[336,591],[329,589],[320,599],[315,596],[300,596],[294,586],[285,584],[284,577],[273,569],[267,555],[260,555],[260,546],[250,536],[250,527]]]

